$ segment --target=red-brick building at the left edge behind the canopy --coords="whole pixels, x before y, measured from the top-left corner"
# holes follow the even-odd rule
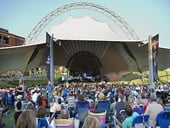
[[[9,33],[8,30],[0,28],[0,47],[23,45],[25,38]]]

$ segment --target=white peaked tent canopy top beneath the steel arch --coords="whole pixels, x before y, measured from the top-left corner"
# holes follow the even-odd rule
[[[113,32],[107,23],[97,21],[90,16],[70,16],[61,24],[54,25],[49,33],[54,34],[56,39],[64,40],[126,40],[126,37],[123,35],[123,33],[122,35],[118,35],[116,32]]]

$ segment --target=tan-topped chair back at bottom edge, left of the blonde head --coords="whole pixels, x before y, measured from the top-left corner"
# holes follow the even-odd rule
[[[56,128],[74,128],[74,121],[72,119],[56,119]]]

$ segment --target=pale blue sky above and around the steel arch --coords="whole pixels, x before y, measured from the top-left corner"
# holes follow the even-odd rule
[[[160,47],[170,48],[169,0],[1,0],[0,27],[26,38],[44,16],[73,2],[92,2],[102,5],[121,16],[141,40],[159,33]],[[56,17],[45,29],[49,29],[54,22],[61,22],[63,17],[79,15],[78,11]],[[104,16],[100,18],[107,20]]]

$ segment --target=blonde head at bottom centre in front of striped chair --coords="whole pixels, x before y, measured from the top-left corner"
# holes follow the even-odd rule
[[[100,122],[96,117],[88,116],[82,128],[100,128]]]

